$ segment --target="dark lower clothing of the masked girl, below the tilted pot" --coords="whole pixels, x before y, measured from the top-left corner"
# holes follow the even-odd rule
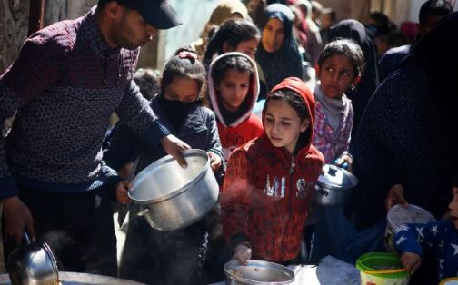
[[[119,276],[146,284],[202,285],[207,254],[207,234],[203,221],[179,231],[156,231],[133,205],[125,236]]]

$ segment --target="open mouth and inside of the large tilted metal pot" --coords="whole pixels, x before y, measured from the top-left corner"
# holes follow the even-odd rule
[[[187,168],[182,168],[171,156],[151,163],[139,172],[128,195],[139,204],[153,204],[165,201],[186,191],[198,182],[210,167],[208,154],[192,149],[183,152]]]

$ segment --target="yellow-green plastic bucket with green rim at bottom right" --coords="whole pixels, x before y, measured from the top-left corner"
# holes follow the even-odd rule
[[[370,252],[356,260],[361,285],[408,285],[410,274],[399,257],[389,252]]]

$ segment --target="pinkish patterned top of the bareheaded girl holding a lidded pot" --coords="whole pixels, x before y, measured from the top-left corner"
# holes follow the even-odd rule
[[[341,113],[341,121],[337,132],[334,133],[331,124],[326,119],[324,105],[316,101],[314,121],[314,141],[312,144],[323,153],[324,163],[332,163],[344,151],[348,150],[353,126],[353,106],[350,100]]]

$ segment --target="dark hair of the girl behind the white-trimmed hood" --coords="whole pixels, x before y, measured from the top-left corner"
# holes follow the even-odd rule
[[[238,44],[252,39],[259,40],[261,33],[259,29],[249,20],[245,19],[228,19],[214,33],[208,43],[204,61],[210,62],[214,54],[223,54],[223,44],[227,43],[234,49]]]

